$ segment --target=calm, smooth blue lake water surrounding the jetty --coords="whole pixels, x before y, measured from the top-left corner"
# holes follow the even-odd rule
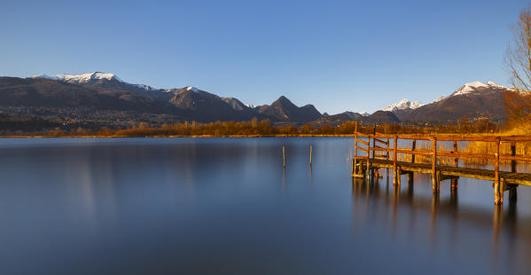
[[[438,198],[423,175],[367,185],[352,146],[1,139],[0,274],[531,272],[531,187],[500,209],[478,180]]]

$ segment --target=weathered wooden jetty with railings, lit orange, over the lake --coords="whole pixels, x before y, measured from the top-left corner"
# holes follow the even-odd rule
[[[410,148],[400,148],[402,143],[410,143]],[[425,141],[431,144],[429,149],[418,149],[417,141]],[[465,153],[457,151],[457,142],[489,142],[494,143],[495,153]],[[495,203],[504,201],[504,191],[509,190],[510,196],[516,198],[516,187],[519,185],[531,186],[531,174],[516,171],[516,161],[529,161],[529,155],[516,155],[516,146],[522,142],[531,142],[529,136],[474,136],[474,135],[386,135],[377,134],[374,130],[372,135],[355,132],[355,152],[352,157],[352,177],[366,177],[370,175],[379,177],[379,169],[393,169],[393,183],[400,185],[400,176],[412,173],[425,173],[432,176],[433,193],[439,193],[441,181],[450,179],[451,188],[457,188],[459,177],[471,177],[494,182]],[[453,150],[438,149],[441,143],[453,143]],[[500,145],[511,144],[511,154],[501,154]],[[361,153],[358,155],[358,151]],[[410,161],[399,160],[398,155],[410,155]],[[422,163],[416,160],[416,155],[429,158],[430,163]],[[454,159],[449,165],[441,164],[441,158]],[[493,169],[478,169],[459,167],[459,159],[477,158],[492,160]],[[426,157],[424,157],[426,160]],[[439,160],[439,161],[438,161]],[[511,161],[511,171],[501,171],[500,161]],[[372,172],[372,174],[371,174]]]

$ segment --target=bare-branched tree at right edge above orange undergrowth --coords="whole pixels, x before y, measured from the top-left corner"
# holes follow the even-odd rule
[[[505,93],[510,120],[514,126],[531,134],[531,8],[519,14],[512,27],[513,40],[507,46],[504,63],[516,92]]]

